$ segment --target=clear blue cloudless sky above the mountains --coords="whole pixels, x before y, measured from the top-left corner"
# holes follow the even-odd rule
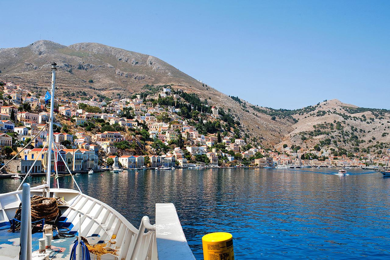
[[[390,1],[1,0],[0,48],[39,39],[150,54],[272,108],[390,109]]]

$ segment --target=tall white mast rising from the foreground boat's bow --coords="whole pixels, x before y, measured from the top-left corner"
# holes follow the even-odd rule
[[[53,142],[53,121],[54,121],[54,87],[55,87],[55,74],[57,72],[57,63],[51,63],[51,99],[50,99],[50,124],[49,124],[49,136],[47,146],[47,173],[46,173],[46,197],[50,197],[50,173],[51,173],[51,149]]]

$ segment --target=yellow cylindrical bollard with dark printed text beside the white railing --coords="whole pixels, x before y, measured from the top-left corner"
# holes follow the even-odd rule
[[[204,260],[234,260],[232,234],[210,233],[203,236],[202,244]]]

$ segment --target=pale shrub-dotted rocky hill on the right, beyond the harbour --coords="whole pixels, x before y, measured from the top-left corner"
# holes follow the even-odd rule
[[[390,111],[385,109],[360,108],[331,100],[297,110],[293,118],[293,131],[282,138],[278,148],[295,144],[336,151],[381,152],[382,145],[389,141]]]

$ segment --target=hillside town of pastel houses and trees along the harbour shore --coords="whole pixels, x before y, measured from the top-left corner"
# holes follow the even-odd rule
[[[3,83],[2,88],[0,148],[4,161],[28,144],[7,171],[26,173],[34,161],[31,173],[46,171],[47,96],[12,82]],[[58,150],[52,153],[52,160],[58,171],[389,165],[390,150],[334,156],[330,149],[321,147],[266,149],[242,133],[240,123],[229,112],[195,94],[170,85],[145,89],[125,99],[111,100],[103,95],[88,100],[57,99],[54,141]]]

